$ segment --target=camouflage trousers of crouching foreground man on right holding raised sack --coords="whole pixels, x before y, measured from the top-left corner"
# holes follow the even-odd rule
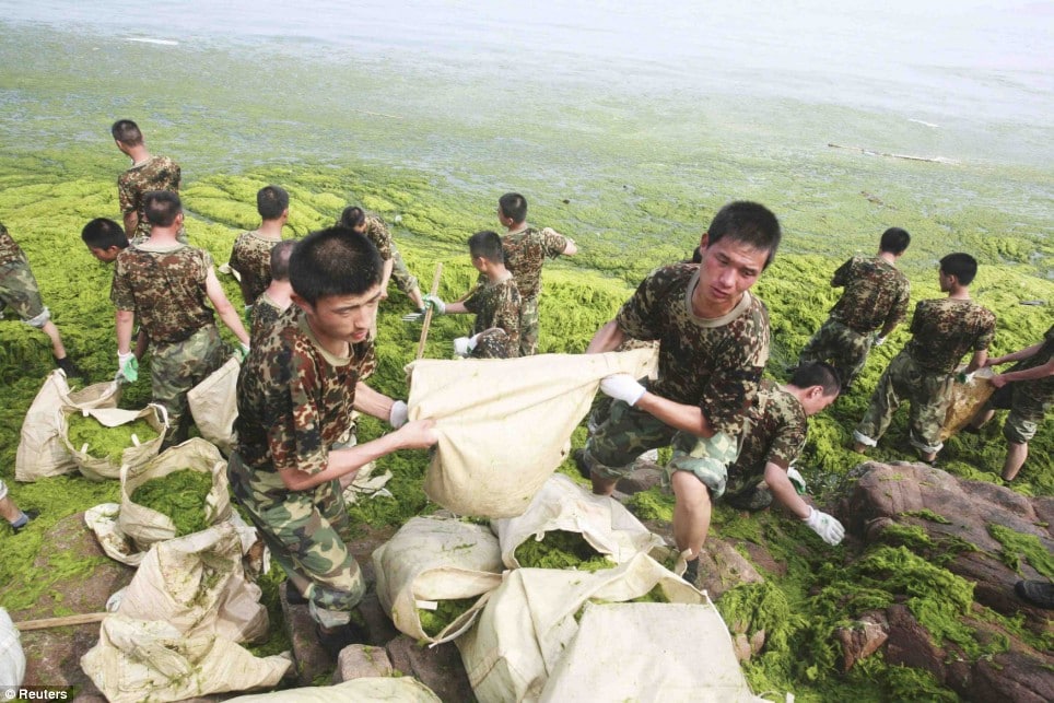
[[[605,409],[607,417],[599,417],[597,412],[602,413]],[[628,474],[633,461],[648,449],[672,445],[667,478],[674,471],[691,471],[710,489],[713,499],[725,492],[728,465],[739,455],[734,437],[722,432],[700,437],[675,430],[622,400],[600,403],[596,411],[593,420],[599,422],[586,441],[585,462],[600,478],[618,480]]]

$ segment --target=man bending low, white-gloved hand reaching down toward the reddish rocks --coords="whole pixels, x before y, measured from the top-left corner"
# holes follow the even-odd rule
[[[790,465],[805,448],[808,418],[834,402],[838,395],[838,373],[823,362],[801,364],[786,386],[762,379],[743,429],[739,457],[728,467],[725,500],[734,507],[760,509],[775,496],[825,542],[841,542],[845,535],[842,524],[806,503],[789,477]]]

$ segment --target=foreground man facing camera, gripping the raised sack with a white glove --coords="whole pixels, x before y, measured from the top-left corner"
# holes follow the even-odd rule
[[[647,387],[626,374],[601,382],[616,402],[581,461],[594,493],[610,495],[636,457],[672,443],[674,538],[690,578],[710,529],[711,502],[725,491],[769,359],[769,313],[749,289],[780,238],[780,223],[763,206],[725,206],[702,236],[702,262],[648,274],[586,350],[612,351],[628,336],[659,340],[658,378]]]

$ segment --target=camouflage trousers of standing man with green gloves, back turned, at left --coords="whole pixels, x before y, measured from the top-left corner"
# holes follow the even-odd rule
[[[155,342],[150,360],[150,386],[154,402],[168,411],[172,427],[168,444],[186,435],[187,392],[226,363],[231,348],[220,339],[215,325],[206,325],[194,335],[169,344]]]

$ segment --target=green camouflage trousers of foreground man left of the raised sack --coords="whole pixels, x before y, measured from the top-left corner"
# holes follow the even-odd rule
[[[243,466],[237,452],[232,453],[227,476],[234,497],[307,598],[312,618],[327,630],[347,625],[366,593],[366,582],[348,551],[353,536],[339,482],[291,491],[283,500],[265,499],[243,482]]]

